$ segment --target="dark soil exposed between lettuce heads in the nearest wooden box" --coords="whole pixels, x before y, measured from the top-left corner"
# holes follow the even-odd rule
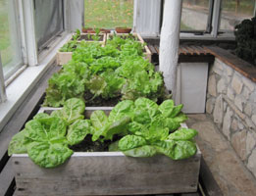
[[[108,152],[109,145],[121,137],[114,136],[113,141],[107,140],[104,142],[92,141],[91,135],[87,135],[82,142],[77,145],[70,146],[74,152]]]

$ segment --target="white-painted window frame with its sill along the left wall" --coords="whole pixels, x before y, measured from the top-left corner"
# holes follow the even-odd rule
[[[26,96],[28,93],[30,93],[30,90],[34,87],[36,82],[49,69],[50,66],[55,64],[57,51],[72,36],[70,32],[74,29],[71,28],[71,26],[74,28],[81,28],[83,23],[81,18],[82,13],[80,13],[80,15],[76,14],[76,17],[70,15],[72,13],[71,9],[75,8],[74,5],[72,5],[72,2],[77,6],[78,4],[82,5],[83,0],[64,0],[65,32],[63,32],[60,37],[56,37],[56,39],[49,45],[49,50],[38,55],[33,25],[33,1],[15,1],[19,6],[19,23],[21,25],[21,37],[23,39],[22,50],[24,53],[24,62],[26,65],[17,73],[13,74],[12,78],[4,80],[0,59],[0,132],[4,125],[8,123],[10,118],[26,99]],[[71,25],[71,23],[77,22],[77,20],[79,20],[77,26]],[[27,31],[29,32],[29,36],[26,34]],[[3,102],[6,99],[7,101]]]

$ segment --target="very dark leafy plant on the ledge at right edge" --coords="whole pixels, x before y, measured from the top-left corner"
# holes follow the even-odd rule
[[[235,54],[241,59],[256,65],[256,18],[246,19],[234,30],[237,47]]]

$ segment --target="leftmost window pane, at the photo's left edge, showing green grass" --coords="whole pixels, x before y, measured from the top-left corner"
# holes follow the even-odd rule
[[[0,0],[0,54],[5,78],[23,64],[16,13],[13,0]]]

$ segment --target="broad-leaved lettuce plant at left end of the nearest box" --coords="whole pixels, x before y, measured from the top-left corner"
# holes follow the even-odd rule
[[[9,156],[27,153],[42,168],[62,165],[73,154],[69,146],[81,142],[91,131],[90,121],[83,120],[84,109],[83,101],[72,98],[51,115],[37,114],[12,138]]]

